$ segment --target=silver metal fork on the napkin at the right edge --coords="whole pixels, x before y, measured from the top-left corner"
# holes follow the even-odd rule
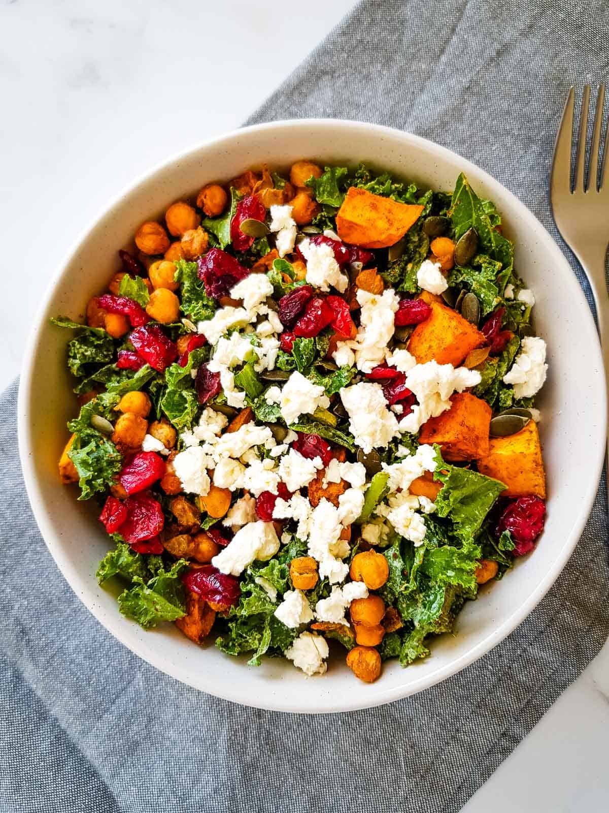
[[[609,179],[607,178],[609,131],[605,137],[603,162],[600,163],[604,98],[605,86],[600,85],[594,113],[590,164],[586,176],[585,152],[588,137],[590,85],[585,85],[577,137],[575,174],[571,180],[575,89],[569,90],[563,118],[556,136],[550,195],[552,213],[559,232],[579,260],[585,276],[590,282],[596,305],[598,334],[603,348],[605,373],[606,376],[609,376],[609,295],[605,279],[605,255],[607,254],[607,244],[609,244]],[[598,172],[599,164],[600,173]],[[609,485],[609,446],[607,447],[607,467],[607,484]]]

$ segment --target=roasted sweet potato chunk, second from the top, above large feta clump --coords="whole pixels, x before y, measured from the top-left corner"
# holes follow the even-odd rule
[[[486,342],[486,337],[451,307],[429,304],[431,314],[412,331],[408,350],[419,364],[437,361],[458,367],[470,350]]]

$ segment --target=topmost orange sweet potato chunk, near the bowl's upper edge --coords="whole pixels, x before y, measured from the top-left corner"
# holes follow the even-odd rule
[[[336,215],[341,240],[365,249],[384,249],[404,237],[423,211],[414,203],[400,203],[352,186]]]

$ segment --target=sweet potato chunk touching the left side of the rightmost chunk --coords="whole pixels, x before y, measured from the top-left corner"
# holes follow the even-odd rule
[[[451,408],[421,427],[420,443],[437,443],[445,460],[477,460],[489,449],[490,406],[471,393],[455,393]]]

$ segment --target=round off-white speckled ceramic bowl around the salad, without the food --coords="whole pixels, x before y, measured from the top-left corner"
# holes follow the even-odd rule
[[[49,317],[84,317],[85,303],[105,289],[143,220],[161,215],[205,183],[269,163],[288,167],[310,157],[327,163],[365,161],[425,187],[451,190],[459,172],[492,199],[516,243],[516,268],[537,300],[538,333],[548,343],[550,371],[539,399],[549,501],[538,549],[513,572],[482,589],[456,625],[435,641],[431,657],[402,669],[386,663],[374,685],[356,680],[335,656],[326,676],[307,678],[283,659],[248,667],[213,644],[194,646],[171,625],[145,632],[119,614],[94,573],[108,550],[96,506],[76,502],[59,485],[57,461],[66,420],[77,411],[65,369],[67,334]],[[19,450],[42,536],[76,595],[104,626],[153,666],[197,689],[250,706],[317,713],[348,711],[404,698],[480,658],[525,619],[572,553],[597,489],[603,463],[606,396],[603,364],[590,310],[558,246],[512,193],[486,172],[430,141],[396,130],[335,120],[299,120],[245,128],[179,155],[138,181],[89,229],[54,277],[32,331],[19,389]]]

